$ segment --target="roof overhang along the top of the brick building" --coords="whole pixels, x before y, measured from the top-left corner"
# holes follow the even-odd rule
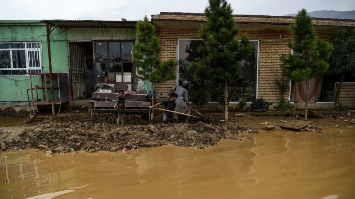
[[[288,30],[295,17],[234,15],[237,27],[242,30]],[[312,18],[316,32],[334,32],[338,29],[355,28],[353,19]],[[152,22],[157,27],[200,28],[207,19],[202,13],[167,13],[152,15]]]

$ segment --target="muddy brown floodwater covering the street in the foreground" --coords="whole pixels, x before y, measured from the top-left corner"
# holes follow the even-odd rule
[[[0,198],[355,198],[355,131],[278,130],[207,149],[9,150]]]

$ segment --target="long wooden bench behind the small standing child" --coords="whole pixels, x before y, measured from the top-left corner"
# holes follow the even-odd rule
[[[91,116],[93,111],[107,111],[107,112],[116,112],[113,109],[115,105],[115,98],[119,95],[119,93],[99,93],[93,92],[92,99],[89,101],[89,112],[91,112]],[[107,97],[108,101],[105,101]],[[148,112],[148,122],[151,121],[151,102],[147,102],[147,95],[142,94],[126,94],[126,111],[127,112]]]

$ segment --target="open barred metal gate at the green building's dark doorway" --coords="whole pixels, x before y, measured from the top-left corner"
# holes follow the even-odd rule
[[[84,50],[81,44],[70,42],[70,72],[73,100],[85,98]]]

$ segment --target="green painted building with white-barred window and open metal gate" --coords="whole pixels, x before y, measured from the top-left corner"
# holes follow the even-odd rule
[[[72,100],[91,96],[97,83],[150,88],[138,81],[132,63],[136,21],[0,21],[0,102],[27,102],[28,73],[49,73],[46,23],[55,27],[49,35],[52,72],[68,73]],[[32,78],[32,86],[40,83],[39,76]]]

